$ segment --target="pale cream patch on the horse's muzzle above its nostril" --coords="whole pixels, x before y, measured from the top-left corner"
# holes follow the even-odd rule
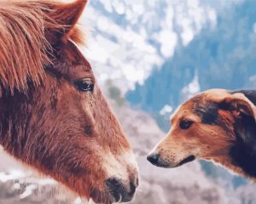
[[[108,152],[104,154],[103,158],[102,165],[108,178],[114,177],[128,181],[130,176],[137,176],[137,161],[131,151],[116,156]]]

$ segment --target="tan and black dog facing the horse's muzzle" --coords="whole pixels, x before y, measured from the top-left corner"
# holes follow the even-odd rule
[[[189,99],[148,161],[178,167],[195,158],[220,163],[256,180],[256,90],[211,89]]]

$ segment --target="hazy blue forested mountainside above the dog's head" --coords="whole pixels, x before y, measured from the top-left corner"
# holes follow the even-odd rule
[[[188,46],[177,48],[143,85],[137,83],[126,99],[144,111],[159,112],[165,105],[177,107],[194,79],[196,92],[255,87],[255,8],[255,1],[245,1],[221,12],[214,29],[205,27]]]

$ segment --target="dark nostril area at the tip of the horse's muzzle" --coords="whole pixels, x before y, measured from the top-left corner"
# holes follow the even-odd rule
[[[125,184],[118,178],[108,178],[106,185],[110,194],[113,195],[114,200],[122,202],[131,201],[137,188],[137,184],[134,182],[130,182],[128,188],[125,187]]]

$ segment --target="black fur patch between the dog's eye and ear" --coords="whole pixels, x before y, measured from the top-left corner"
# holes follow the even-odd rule
[[[218,124],[218,104],[207,103],[206,105],[200,105],[195,108],[195,114],[201,117],[201,122],[208,125]]]

